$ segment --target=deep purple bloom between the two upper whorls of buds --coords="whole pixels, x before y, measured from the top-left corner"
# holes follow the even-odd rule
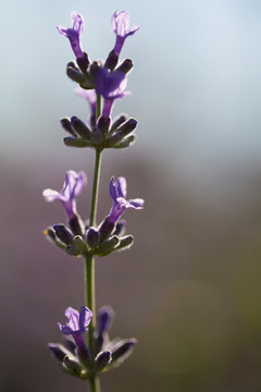
[[[107,68],[98,69],[95,77],[96,93],[104,98],[103,117],[109,117],[114,99],[122,98],[129,91],[124,91],[127,78],[124,72],[111,72]]]

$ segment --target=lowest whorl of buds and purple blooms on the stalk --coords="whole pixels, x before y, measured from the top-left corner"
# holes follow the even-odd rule
[[[113,315],[109,306],[102,307],[98,313],[95,357],[91,359],[90,351],[84,341],[84,333],[87,331],[92,313],[84,306],[80,307],[79,313],[72,307],[65,310],[66,324],[58,323],[66,336],[64,344],[49,343],[48,345],[62,371],[86,380],[94,373],[108,371],[121,365],[132,354],[137,343],[136,339],[113,339],[112,341],[109,339]]]

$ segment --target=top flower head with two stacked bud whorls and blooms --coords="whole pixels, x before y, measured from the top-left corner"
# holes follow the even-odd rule
[[[111,120],[114,100],[129,94],[126,91],[126,74],[132,70],[133,62],[125,59],[119,64],[119,57],[125,39],[133,35],[139,27],[128,29],[129,14],[125,11],[114,12],[112,16],[112,29],[116,35],[114,48],[107,60],[101,62],[89,61],[86,52],[82,49],[80,35],[84,29],[83,16],[77,12],[72,13],[72,28],[58,26],[59,33],[67,37],[76,63],[67,64],[67,76],[78,83],[76,90],[90,105],[90,122],[86,124],[76,117],[62,119],[63,128],[70,134],[64,138],[64,144],[72,147],[92,147],[99,150],[104,148],[126,148],[135,140],[133,134],[137,121],[127,119],[125,115]],[[103,100],[101,115],[97,119],[97,105]]]

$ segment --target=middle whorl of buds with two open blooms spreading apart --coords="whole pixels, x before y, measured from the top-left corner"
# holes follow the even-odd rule
[[[64,224],[54,224],[45,233],[62,249],[72,256],[85,256],[91,253],[97,256],[107,256],[114,250],[129,248],[133,244],[132,235],[124,235],[125,221],[120,218],[127,208],[141,209],[144,200],[140,198],[126,199],[127,184],[124,177],[114,176],[110,182],[110,195],[113,200],[108,217],[97,226],[88,226],[76,211],[76,196],[82,192],[87,180],[83,171],[66,172],[65,182],[61,192],[45,189],[42,195],[47,201],[59,199],[66,212],[69,228]]]

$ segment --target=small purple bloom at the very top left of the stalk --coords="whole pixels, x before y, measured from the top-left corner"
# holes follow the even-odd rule
[[[83,16],[76,11],[71,13],[71,17],[73,28],[66,28],[62,26],[57,26],[57,28],[60,34],[69,38],[76,59],[80,59],[85,57],[85,53],[79,42],[79,35],[84,30],[84,20]]]

